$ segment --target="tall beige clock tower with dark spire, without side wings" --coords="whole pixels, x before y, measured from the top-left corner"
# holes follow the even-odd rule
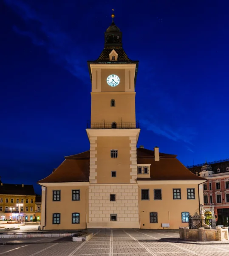
[[[88,228],[139,227],[135,115],[138,61],[122,48],[114,23],[105,32],[105,47],[88,61],[92,84]]]

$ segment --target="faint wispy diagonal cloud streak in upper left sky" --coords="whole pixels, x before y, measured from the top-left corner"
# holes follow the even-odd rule
[[[56,20],[50,15],[45,16],[21,0],[5,0],[15,12],[24,20],[25,28],[14,25],[17,34],[31,38],[34,45],[44,47],[52,55],[54,61],[71,72],[79,79],[88,78],[88,72],[80,61],[84,56],[77,47],[77,42],[63,32]]]

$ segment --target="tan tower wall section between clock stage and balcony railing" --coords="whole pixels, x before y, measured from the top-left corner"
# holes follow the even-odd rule
[[[115,107],[110,106],[111,99],[115,100]],[[91,122],[104,122],[104,120],[110,123],[136,122],[135,92],[91,93]]]

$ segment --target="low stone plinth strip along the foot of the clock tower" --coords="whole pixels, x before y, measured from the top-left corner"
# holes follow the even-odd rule
[[[88,222],[87,228],[138,228],[140,229],[139,222]]]

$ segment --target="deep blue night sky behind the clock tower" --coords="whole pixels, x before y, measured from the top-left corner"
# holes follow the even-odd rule
[[[113,8],[123,48],[139,60],[138,145],[178,154],[184,165],[229,157],[228,1],[3,0],[4,183],[35,184],[64,156],[89,149],[86,61],[102,52]]]

